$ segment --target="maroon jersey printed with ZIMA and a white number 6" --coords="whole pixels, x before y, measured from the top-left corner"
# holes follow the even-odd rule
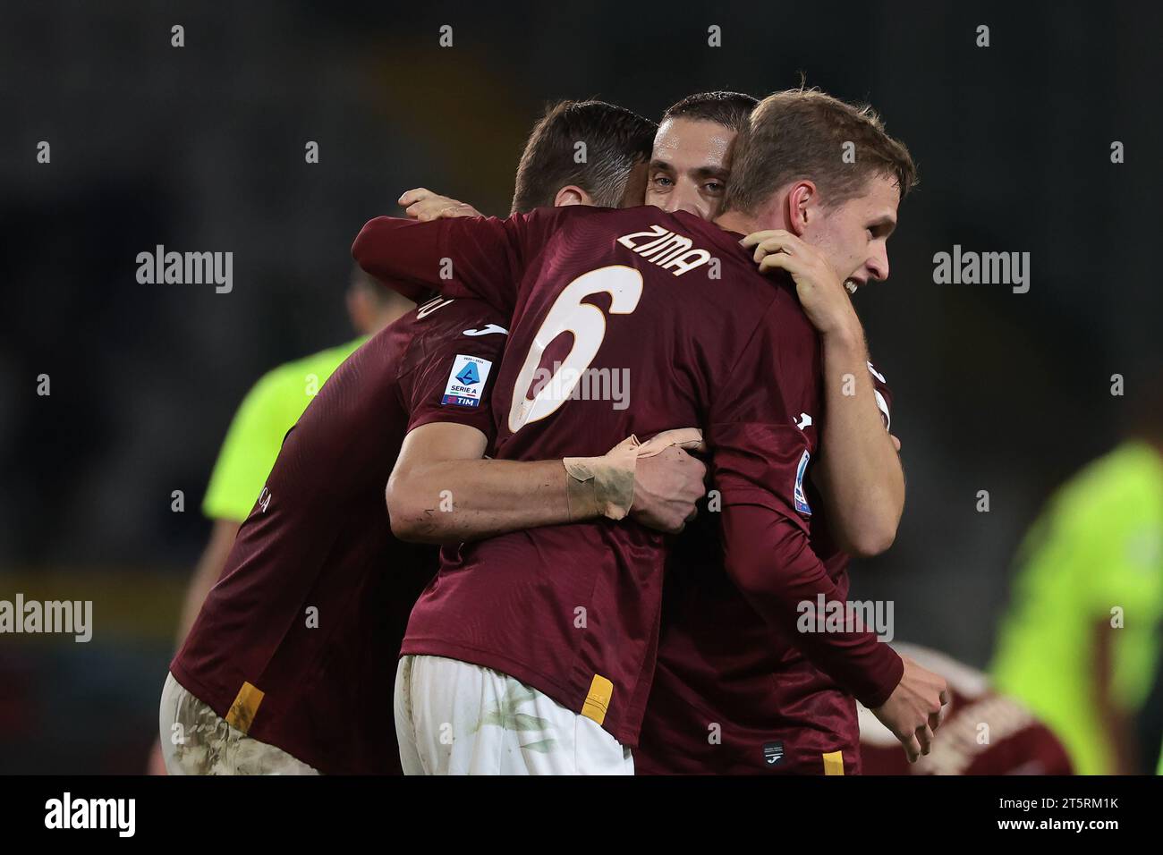
[[[818,428],[801,416],[821,412],[820,348],[790,282],[759,275],[740,237],[654,207],[568,207],[378,218],[352,251],[406,292],[440,287],[512,309],[493,394],[498,457],[601,455],[632,433],[702,427],[727,570],[771,625],[794,627],[798,603],[837,597],[808,546],[804,485]],[[663,535],[608,520],[445,549],[404,651],[508,674],[634,746],[666,551]],[[899,657],[869,633],[801,646],[876,705],[900,678]]]

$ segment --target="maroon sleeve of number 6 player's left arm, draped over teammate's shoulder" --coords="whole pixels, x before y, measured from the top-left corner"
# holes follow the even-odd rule
[[[429,222],[377,216],[356,236],[351,255],[370,276],[416,302],[436,290],[484,300],[511,318],[528,261],[576,208]]]

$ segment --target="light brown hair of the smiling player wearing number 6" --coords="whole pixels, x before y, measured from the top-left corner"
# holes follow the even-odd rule
[[[912,155],[872,107],[814,88],[777,92],[759,101],[735,138],[723,211],[754,214],[800,179],[814,181],[823,204],[835,207],[859,195],[873,176],[893,179],[901,199],[916,185]]]

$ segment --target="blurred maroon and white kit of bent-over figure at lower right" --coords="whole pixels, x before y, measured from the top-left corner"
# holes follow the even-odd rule
[[[1072,775],[1070,756],[1050,728],[1013,698],[996,693],[986,676],[935,650],[894,644],[949,684],[946,717],[932,750],[909,763],[900,742],[859,710],[865,775]]]

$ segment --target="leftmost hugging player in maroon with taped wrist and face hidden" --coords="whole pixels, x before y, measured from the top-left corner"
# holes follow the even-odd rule
[[[616,201],[644,166],[637,161],[652,124],[600,102],[570,117],[620,127],[578,176]],[[530,141],[534,155],[541,144]],[[536,177],[527,185],[541,204],[558,191]],[[385,484],[406,436],[440,427],[456,448],[472,449],[442,476],[465,539],[608,513],[570,501],[573,479],[561,459],[479,459],[493,432],[487,390],[506,323],[478,300],[429,300],[322,387],[287,434],[171,664],[159,719],[169,771],[399,771],[390,669],[434,570],[426,550],[395,540],[384,518]],[[600,471],[604,458],[590,465]],[[619,465],[632,490],[620,513],[680,528],[701,494],[702,465],[677,449]]]

